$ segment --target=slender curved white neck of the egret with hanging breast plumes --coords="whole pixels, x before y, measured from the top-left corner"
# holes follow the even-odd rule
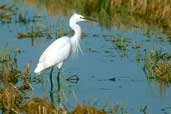
[[[74,23],[74,24],[70,24],[70,27],[72,28],[72,30],[74,30],[74,35],[71,38],[71,45],[72,45],[72,55],[76,55],[78,52],[78,49],[81,50],[80,48],[80,37],[81,37],[81,28],[78,24]]]

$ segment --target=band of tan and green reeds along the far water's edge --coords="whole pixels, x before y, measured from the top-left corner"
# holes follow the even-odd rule
[[[35,3],[40,8],[41,0],[28,0],[29,5]],[[108,27],[130,24],[143,27],[159,25],[164,29],[171,27],[170,0],[45,0],[43,3],[50,16],[78,12],[94,17]]]

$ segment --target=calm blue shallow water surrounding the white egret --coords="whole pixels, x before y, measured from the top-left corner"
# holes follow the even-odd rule
[[[4,4],[4,1],[1,1]],[[27,2],[13,2],[18,7],[16,15],[9,23],[0,23],[0,48],[20,48],[23,53],[18,58],[20,68],[31,61],[31,76],[37,77],[33,70],[43,50],[63,33],[69,33],[69,16],[48,16],[42,5],[39,11]],[[20,6],[20,7],[19,7]],[[19,18],[23,16],[25,21]],[[40,16],[40,17],[39,17]],[[33,21],[33,20],[36,21]],[[32,21],[30,21],[32,20]],[[161,109],[171,106],[171,88],[162,88],[155,80],[149,81],[143,72],[143,62],[137,63],[136,55],[144,53],[144,49],[162,48],[163,52],[170,52],[167,36],[161,31],[151,30],[147,35],[143,29],[122,30],[117,27],[107,29],[98,23],[80,23],[84,36],[80,45],[83,53],[70,58],[63,66],[61,73],[61,89],[66,98],[61,95],[62,104],[74,106],[77,101],[88,103],[97,101],[97,106],[103,107],[109,100],[107,108],[120,103],[131,114],[139,113],[147,105],[150,114],[161,114]],[[45,32],[51,33],[47,38]],[[41,30],[44,36],[39,38],[17,39],[18,33]],[[130,28],[132,29],[132,28]],[[162,39],[158,37],[162,37]],[[127,50],[119,50],[112,43],[113,38],[123,37],[127,41]],[[137,41],[140,48],[133,49],[132,41]],[[49,97],[49,72],[45,71],[39,78],[42,82],[33,84],[33,96]],[[53,81],[56,84],[55,69]],[[71,83],[65,79],[69,76],[79,77],[78,83]],[[91,102],[91,104],[93,104]],[[56,105],[58,103],[56,102]]]

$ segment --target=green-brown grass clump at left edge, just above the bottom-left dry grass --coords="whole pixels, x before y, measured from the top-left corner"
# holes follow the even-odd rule
[[[17,65],[17,55],[20,50],[16,50],[12,54],[9,54],[4,49],[0,54],[0,82],[3,84],[18,82],[18,77],[21,75],[21,71]]]

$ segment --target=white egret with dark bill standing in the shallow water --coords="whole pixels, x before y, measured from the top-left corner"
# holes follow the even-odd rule
[[[74,13],[71,16],[69,20],[69,26],[72,30],[74,30],[74,35],[72,37],[63,36],[50,44],[49,47],[40,56],[39,63],[34,70],[35,73],[40,74],[47,68],[53,68],[54,66],[57,66],[57,68],[59,69],[59,74],[63,63],[67,60],[67,58],[71,54],[76,55],[78,50],[80,49],[79,41],[81,37],[81,28],[77,23],[86,20],[92,19],[85,18],[77,13]],[[51,73],[52,71],[53,69],[51,70]],[[59,81],[59,75],[57,77],[57,80]]]

